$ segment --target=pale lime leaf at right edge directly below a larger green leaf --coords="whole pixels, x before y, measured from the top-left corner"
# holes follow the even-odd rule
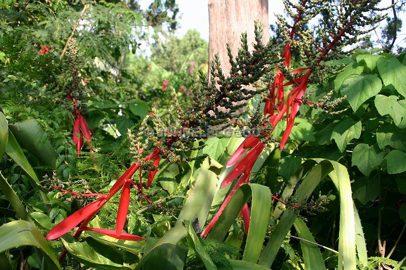
[[[396,126],[399,126],[402,118],[406,117],[406,110],[397,101],[397,96],[377,95],[375,97],[375,106],[382,116],[389,114]]]

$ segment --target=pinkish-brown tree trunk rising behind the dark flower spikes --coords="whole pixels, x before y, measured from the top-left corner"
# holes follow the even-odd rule
[[[214,54],[218,54],[223,72],[228,75],[226,43],[235,56],[241,44],[241,33],[247,32],[250,50],[254,42],[254,21],[264,24],[262,41],[269,40],[268,0],[209,0],[209,68]]]

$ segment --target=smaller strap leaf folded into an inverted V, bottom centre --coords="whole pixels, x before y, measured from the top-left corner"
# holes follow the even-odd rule
[[[222,215],[211,230],[208,239],[223,241],[228,229],[239,215],[243,206],[252,197],[251,220],[243,260],[256,263],[265,239],[271,207],[270,190],[260,184],[244,184],[231,197]]]

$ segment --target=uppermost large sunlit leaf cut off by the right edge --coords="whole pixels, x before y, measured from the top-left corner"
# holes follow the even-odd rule
[[[377,66],[384,85],[393,85],[400,95],[406,97],[406,66],[396,58],[385,57],[378,59]]]

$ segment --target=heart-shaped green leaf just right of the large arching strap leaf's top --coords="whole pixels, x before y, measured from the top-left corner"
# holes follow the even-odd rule
[[[369,175],[376,166],[381,165],[383,160],[383,152],[379,150],[378,145],[368,146],[360,143],[352,151],[351,166],[357,166],[364,175]]]

